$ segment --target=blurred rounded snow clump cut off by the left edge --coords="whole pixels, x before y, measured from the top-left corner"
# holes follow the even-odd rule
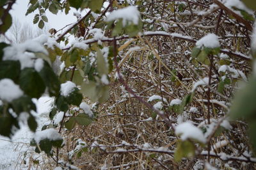
[[[0,99],[6,102],[12,102],[23,95],[23,91],[11,79],[1,79],[0,81]]]

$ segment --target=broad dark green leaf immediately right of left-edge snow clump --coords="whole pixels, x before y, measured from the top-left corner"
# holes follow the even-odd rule
[[[20,73],[20,89],[29,97],[39,98],[45,91],[45,84],[34,68],[24,68]]]

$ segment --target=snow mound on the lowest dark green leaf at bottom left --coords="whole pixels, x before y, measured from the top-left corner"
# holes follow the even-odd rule
[[[57,140],[61,140],[62,137],[56,129],[47,128],[45,130],[36,132],[34,139],[35,139],[36,143],[39,144],[40,141],[42,141],[44,139],[49,139],[50,141],[57,141]]]

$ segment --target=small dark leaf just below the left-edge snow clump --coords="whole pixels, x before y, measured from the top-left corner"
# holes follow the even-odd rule
[[[12,101],[12,108],[17,114],[20,112],[36,111],[36,105],[28,96],[22,96]]]

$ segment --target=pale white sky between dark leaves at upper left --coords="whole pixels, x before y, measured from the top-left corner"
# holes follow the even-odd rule
[[[17,0],[16,3],[13,5],[13,10],[11,10],[10,13],[13,18],[19,19],[20,22],[33,25],[33,19],[35,14],[38,13],[38,10],[26,16],[25,13],[27,12],[28,9],[28,3],[29,0]],[[54,15],[51,12],[49,12],[49,10],[47,10],[45,12],[49,20],[47,25],[49,26],[49,28],[53,27],[54,29],[58,30],[66,26],[67,24],[76,22],[77,19],[73,15],[74,12],[76,12],[76,9],[72,8],[68,15],[65,15],[65,12],[59,12],[57,15]]]

